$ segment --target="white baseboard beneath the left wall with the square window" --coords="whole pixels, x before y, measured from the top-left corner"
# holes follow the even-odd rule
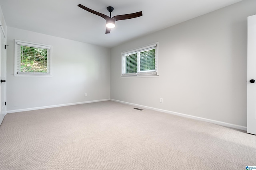
[[[77,103],[69,103],[69,104],[59,104],[59,105],[52,105],[52,106],[43,106],[43,107],[32,107],[28,109],[17,109],[17,110],[8,110],[7,113],[16,113],[21,111],[30,111],[30,110],[38,110],[38,109],[47,109],[52,107],[62,107],[62,106],[71,106],[71,105],[77,105],[77,104],[86,104],[86,103],[94,103],[94,102],[104,102],[108,101],[110,99],[103,99],[103,100],[92,100],[87,102],[77,102]]]

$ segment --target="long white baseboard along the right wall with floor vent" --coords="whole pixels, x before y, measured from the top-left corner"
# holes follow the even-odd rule
[[[188,117],[191,119],[196,119],[196,120],[200,120],[200,121],[206,121],[209,123],[214,123],[217,125],[221,125],[221,126],[226,126],[226,127],[231,127],[231,128],[235,128],[235,129],[240,129],[243,131],[247,131],[247,127],[245,126],[241,126],[241,125],[235,125],[235,124],[231,124],[231,123],[226,123],[226,122],[222,122],[222,121],[216,121],[216,120],[212,120],[212,119],[206,119],[203,117],[197,117],[197,116],[192,116],[192,115],[187,115],[187,114],[183,114],[183,113],[178,113],[178,112],[174,112],[174,111],[168,111],[168,110],[163,110],[163,109],[157,109],[154,107],[148,107],[148,106],[142,106],[142,105],[138,105],[138,104],[133,104],[133,103],[128,103],[128,102],[123,102],[123,101],[119,101],[119,100],[114,100],[114,99],[110,99],[111,101],[114,102],[119,102],[119,103],[123,103],[123,104],[129,104],[132,106],[137,106],[137,107],[142,107],[145,109],[151,109],[151,110],[155,110],[155,111],[160,111],[160,112],[164,112],[164,113],[169,113],[172,115],[178,115],[178,116],[182,116],[182,117]]]

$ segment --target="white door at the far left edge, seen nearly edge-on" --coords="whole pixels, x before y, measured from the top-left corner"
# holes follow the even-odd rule
[[[0,124],[2,123],[6,114],[6,83],[5,83],[5,35],[0,28]]]

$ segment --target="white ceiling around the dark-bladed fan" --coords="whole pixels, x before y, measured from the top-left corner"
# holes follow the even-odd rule
[[[0,0],[8,27],[26,29],[104,47],[153,33],[241,0]],[[143,16],[116,21],[105,34],[106,21],[79,8],[112,16],[142,11]]]

